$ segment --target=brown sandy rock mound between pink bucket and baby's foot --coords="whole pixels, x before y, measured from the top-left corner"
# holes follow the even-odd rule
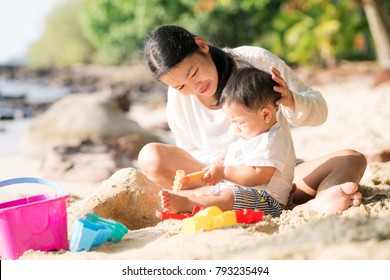
[[[89,197],[68,208],[68,228],[90,212],[111,219],[135,230],[155,226],[161,208],[158,192],[161,187],[135,168],[124,168],[104,181]]]

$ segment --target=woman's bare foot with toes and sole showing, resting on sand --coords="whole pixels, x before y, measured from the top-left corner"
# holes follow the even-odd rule
[[[358,185],[347,182],[319,192],[314,199],[296,206],[293,211],[337,213],[361,203],[362,194],[358,191]]]

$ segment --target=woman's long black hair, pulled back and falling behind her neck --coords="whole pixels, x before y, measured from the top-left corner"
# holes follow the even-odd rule
[[[157,80],[187,56],[196,52],[203,55],[195,43],[195,37],[197,36],[182,27],[163,25],[146,39],[144,57]],[[212,45],[209,45],[209,49],[218,72],[218,86],[215,93],[215,98],[218,100],[236,65],[229,53]]]

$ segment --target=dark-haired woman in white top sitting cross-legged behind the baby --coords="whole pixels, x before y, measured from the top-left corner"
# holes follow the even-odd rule
[[[161,26],[145,44],[145,59],[153,76],[169,86],[167,119],[176,146],[147,144],[139,154],[141,170],[164,188],[171,188],[176,170],[202,170],[225,154],[236,140],[233,126],[218,101],[232,71],[252,65],[271,71],[281,94],[277,104],[292,125],[320,125],[327,106],[320,92],[306,86],[281,59],[259,47],[231,50],[209,45],[182,27]],[[353,150],[337,151],[295,167],[292,196],[296,210],[344,211],[361,204],[357,183],[366,168],[365,157]],[[185,189],[199,189],[193,182]],[[191,193],[193,193],[193,190]]]

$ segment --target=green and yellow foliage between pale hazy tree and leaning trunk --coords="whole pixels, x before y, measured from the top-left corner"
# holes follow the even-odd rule
[[[348,0],[89,0],[84,23],[101,61],[112,64],[140,57],[146,34],[161,24],[215,45],[259,45],[289,63],[316,65],[356,56],[354,40],[368,31],[361,8]]]

